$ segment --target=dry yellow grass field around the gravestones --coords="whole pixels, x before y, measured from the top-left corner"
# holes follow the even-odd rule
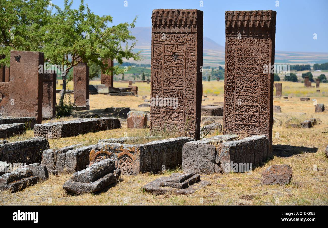
[[[100,81],[91,81],[91,84],[100,84]],[[83,194],[72,196],[62,188],[64,182],[71,175],[50,176],[37,185],[20,192],[10,194],[2,192],[1,205],[327,205],[328,204],[328,159],[324,149],[328,144],[328,83],[320,84],[320,93],[316,88],[304,88],[303,83],[281,82],[282,95],[288,99],[274,98],[274,105],[281,106],[281,113],[274,113],[277,124],[273,126],[273,145],[280,146],[282,151],[274,159],[268,160],[264,166],[256,167],[248,175],[246,173],[230,173],[220,175],[201,175],[202,180],[211,182],[211,185],[199,190],[195,194],[174,196],[166,194],[153,196],[142,191],[142,186],[160,176],[169,176],[169,170],[161,174],[144,173],[137,176],[122,175],[120,182],[106,188],[98,194]],[[73,89],[69,82],[69,89]],[[203,81],[204,95],[207,100],[203,105],[213,102],[223,102],[223,85],[220,81]],[[136,82],[139,97],[108,96],[104,94],[90,95],[90,109],[104,109],[108,107],[131,107],[131,110],[149,111],[150,108],[138,108],[144,103],[142,96],[150,97],[150,84]],[[114,82],[114,87],[127,87],[128,83]],[[58,87],[57,87],[58,88]],[[324,92],[324,93],[322,93]],[[275,92],[274,92],[275,94]],[[300,101],[300,97],[308,96],[310,101]],[[291,98],[290,98],[291,97]],[[59,94],[57,94],[57,99]],[[204,99],[204,97],[203,97]],[[326,111],[314,113],[312,99],[323,103]],[[302,114],[305,113],[305,114]],[[318,125],[310,129],[286,128],[287,119],[297,121],[317,118]],[[57,121],[67,120],[60,118]],[[43,121],[47,122],[47,121]],[[281,124],[279,124],[279,122]],[[88,133],[75,137],[50,139],[50,147],[63,147],[82,142],[85,145],[95,144],[98,139],[146,135],[148,129],[127,130],[126,122],[122,122],[121,129]],[[277,134],[278,133],[278,134]],[[26,134],[9,138],[10,141],[25,139],[33,136],[32,131]],[[283,151],[290,145],[293,153]],[[274,146],[275,149],[275,146]],[[285,186],[261,185],[261,172],[273,164],[287,164],[293,169],[293,178]],[[317,167],[317,169],[314,169]],[[179,170],[175,170],[179,171]]]

